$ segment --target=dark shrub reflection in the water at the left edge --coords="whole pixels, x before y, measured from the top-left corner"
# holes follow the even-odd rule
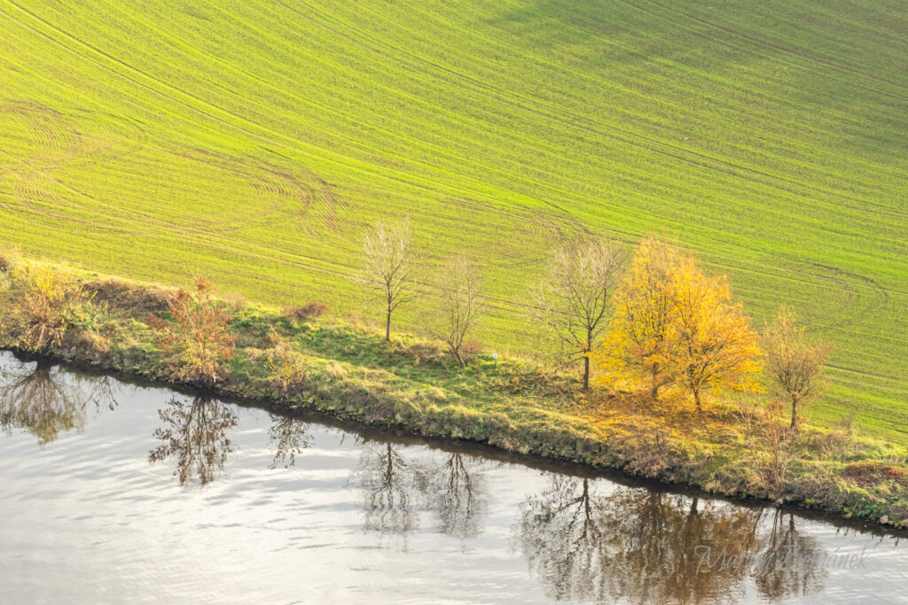
[[[0,428],[21,428],[47,444],[61,432],[81,431],[86,407],[93,403],[116,406],[111,380],[66,374],[49,361],[34,369],[25,364],[0,368]]]

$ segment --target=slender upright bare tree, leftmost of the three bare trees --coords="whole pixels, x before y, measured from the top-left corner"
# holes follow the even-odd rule
[[[391,313],[415,297],[412,236],[410,219],[405,219],[388,226],[376,223],[363,239],[366,267],[362,280],[383,299],[387,341],[391,339]]]

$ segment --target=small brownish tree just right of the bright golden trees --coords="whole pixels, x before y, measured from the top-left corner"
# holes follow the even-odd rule
[[[779,307],[775,321],[765,329],[766,370],[776,390],[792,402],[792,428],[797,427],[797,406],[819,397],[826,386],[823,365],[833,350],[821,341],[808,343],[795,313]]]

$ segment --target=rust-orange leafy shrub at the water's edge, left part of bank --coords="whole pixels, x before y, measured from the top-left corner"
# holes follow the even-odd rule
[[[198,278],[194,293],[180,288],[169,310],[174,323],[151,316],[148,325],[157,345],[171,357],[173,376],[202,384],[225,379],[236,337],[229,333],[232,315],[212,296],[212,282]]]

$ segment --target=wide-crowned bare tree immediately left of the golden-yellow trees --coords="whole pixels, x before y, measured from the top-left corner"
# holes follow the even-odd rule
[[[607,327],[612,291],[624,264],[612,241],[568,241],[555,251],[535,296],[537,319],[558,337],[571,361],[584,360],[583,388],[589,388],[589,354]]]

